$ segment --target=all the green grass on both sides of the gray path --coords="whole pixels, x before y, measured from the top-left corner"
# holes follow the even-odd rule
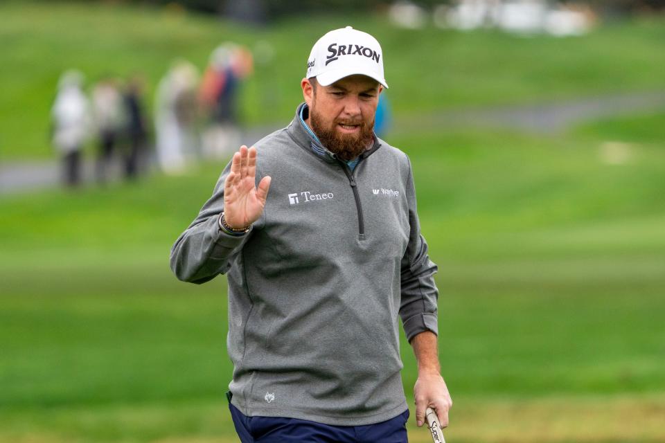
[[[154,86],[174,57],[202,68],[226,39],[274,46],[242,112],[248,125],[286,125],[311,42],[349,24],[254,29],[172,8],[46,4],[0,4],[3,162],[51,156],[63,69],[94,81],[114,60]],[[396,121],[418,122],[386,139],[409,154],[438,264],[447,441],[665,442],[665,109],[544,134],[437,123],[464,107],[662,91],[665,21],[580,39],[352,24],[382,42]],[[0,443],[238,441],[226,279],[186,284],[168,265],[223,167],[0,195]],[[403,334],[401,353],[409,441],[430,442]]]

